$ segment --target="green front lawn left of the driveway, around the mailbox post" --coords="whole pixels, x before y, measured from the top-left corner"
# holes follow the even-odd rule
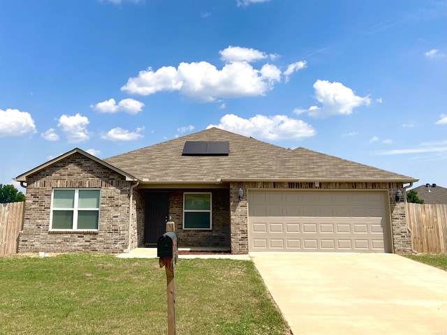
[[[290,334],[254,264],[182,260],[177,334]],[[167,334],[158,259],[0,258],[0,334]]]

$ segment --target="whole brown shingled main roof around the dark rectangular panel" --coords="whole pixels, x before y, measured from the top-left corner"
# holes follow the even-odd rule
[[[186,141],[228,141],[228,156],[182,156]],[[278,147],[209,128],[104,160],[149,183],[221,181],[417,181],[305,148]]]

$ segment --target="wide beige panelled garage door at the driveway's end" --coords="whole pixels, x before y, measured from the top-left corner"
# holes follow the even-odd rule
[[[390,252],[383,191],[249,191],[249,251]]]

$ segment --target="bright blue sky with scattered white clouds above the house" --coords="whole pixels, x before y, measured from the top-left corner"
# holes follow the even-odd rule
[[[214,125],[447,187],[446,18],[446,1],[2,0],[0,184]]]

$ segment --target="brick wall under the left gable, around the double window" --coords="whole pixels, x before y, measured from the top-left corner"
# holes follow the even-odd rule
[[[75,153],[28,177],[24,226],[19,252],[98,251],[127,248],[130,181],[121,174]],[[50,232],[53,188],[101,188],[97,232]],[[135,221],[136,228],[136,221]],[[136,238],[133,244],[136,246]]]

